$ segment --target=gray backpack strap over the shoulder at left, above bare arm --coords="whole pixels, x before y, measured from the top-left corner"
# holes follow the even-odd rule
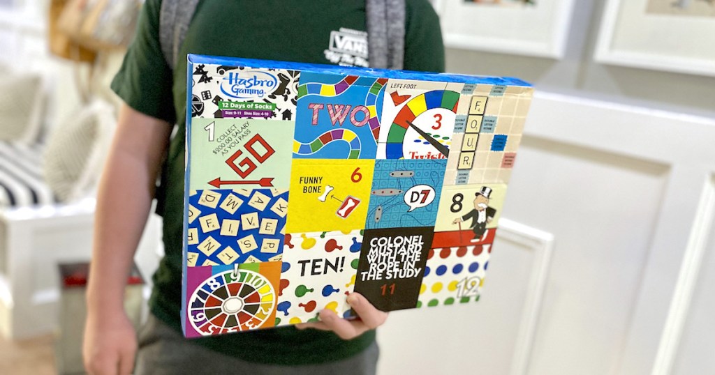
[[[159,44],[162,46],[164,59],[172,70],[177,66],[179,48],[197,4],[199,0],[162,0],[162,9],[159,11]]]

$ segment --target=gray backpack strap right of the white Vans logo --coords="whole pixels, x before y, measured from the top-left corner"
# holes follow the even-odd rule
[[[366,0],[365,9],[370,67],[403,69],[405,0]]]

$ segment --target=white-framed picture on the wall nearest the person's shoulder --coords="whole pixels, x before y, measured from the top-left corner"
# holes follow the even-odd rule
[[[573,0],[437,0],[445,46],[561,59]]]

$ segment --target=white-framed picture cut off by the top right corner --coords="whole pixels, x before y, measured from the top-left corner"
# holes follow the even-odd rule
[[[715,76],[715,1],[608,0],[596,44],[604,64]]]

